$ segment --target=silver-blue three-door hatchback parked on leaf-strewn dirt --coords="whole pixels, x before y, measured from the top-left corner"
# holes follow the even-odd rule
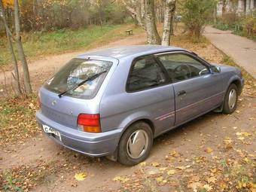
[[[153,139],[209,111],[231,114],[244,80],[178,48],[138,45],[72,59],[39,92],[39,125],[55,142],[125,165],[148,157]]]

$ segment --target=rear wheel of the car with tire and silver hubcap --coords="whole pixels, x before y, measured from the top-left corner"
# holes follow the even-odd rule
[[[123,133],[118,145],[117,160],[126,166],[134,166],[145,160],[153,145],[153,133],[148,123],[133,123]]]

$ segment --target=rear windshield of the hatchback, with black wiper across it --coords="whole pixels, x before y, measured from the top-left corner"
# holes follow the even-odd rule
[[[72,59],[63,66],[53,78],[50,78],[44,87],[55,93],[62,93],[80,84],[81,81],[106,71],[105,73],[102,73],[102,75],[99,75],[98,78],[95,78],[92,81],[87,81],[75,90],[70,90],[65,94],[66,96],[76,98],[91,99],[96,95],[111,66],[112,62],[109,61]]]

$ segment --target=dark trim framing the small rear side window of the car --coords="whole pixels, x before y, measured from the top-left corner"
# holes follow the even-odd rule
[[[155,87],[147,87],[145,89],[141,89],[141,90],[129,90],[128,88],[128,83],[130,82],[130,75],[132,73],[132,70],[133,70],[133,67],[135,66],[136,62],[141,60],[141,59],[145,59],[146,57],[152,57],[154,59],[154,61],[157,63],[158,66],[160,66],[160,69],[163,70],[163,75],[164,77],[166,78],[165,82],[161,83],[161,84],[158,84],[157,86]],[[154,89],[154,88],[157,88],[157,87],[162,87],[166,84],[170,84],[170,78],[169,78],[169,75],[165,69],[165,67],[163,66],[163,63],[158,61],[157,57],[154,56],[154,53],[153,54],[147,54],[147,55],[143,55],[143,56],[137,56],[136,58],[133,59],[132,61],[132,65],[130,66],[130,70],[129,70],[129,73],[128,73],[128,76],[126,78],[126,93],[137,93],[137,92],[140,92],[140,91],[144,91],[144,90],[151,90],[151,89]]]

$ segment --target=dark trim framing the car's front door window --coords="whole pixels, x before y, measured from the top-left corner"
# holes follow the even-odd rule
[[[161,55],[169,55],[169,54],[178,54],[178,53],[181,53],[181,54],[184,54],[184,55],[187,55],[187,56],[190,56],[192,59],[195,59],[197,60],[198,62],[200,62],[200,64],[202,64],[203,66],[206,66],[206,68],[208,69],[208,73],[207,74],[204,74],[204,75],[198,75],[198,76],[195,76],[195,77],[192,77],[192,78],[188,78],[188,79],[184,79],[184,80],[181,80],[181,81],[186,81],[186,80],[189,80],[189,79],[194,79],[194,78],[199,78],[199,77],[203,77],[205,75],[209,75],[211,74],[211,64],[209,64],[209,62],[206,62],[204,59],[200,58],[200,56],[197,56],[197,55],[194,55],[193,53],[190,53],[188,51],[182,51],[182,50],[178,50],[178,51],[168,51],[168,52],[162,52],[162,53],[154,53],[154,56],[156,57],[156,59],[160,61],[160,59],[157,57],[157,56],[161,56]],[[164,69],[166,69],[166,67],[163,65],[163,62],[162,63],[162,66],[164,67]],[[167,71],[167,69],[166,69]],[[169,77],[169,74],[167,72],[167,75]],[[171,77],[169,77],[169,79],[172,79]],[[178,81],[178,82],[181,82],[181,81]],[[172,84],[175,84],[175,83],[178,83],[178,82],[172,82]]]

